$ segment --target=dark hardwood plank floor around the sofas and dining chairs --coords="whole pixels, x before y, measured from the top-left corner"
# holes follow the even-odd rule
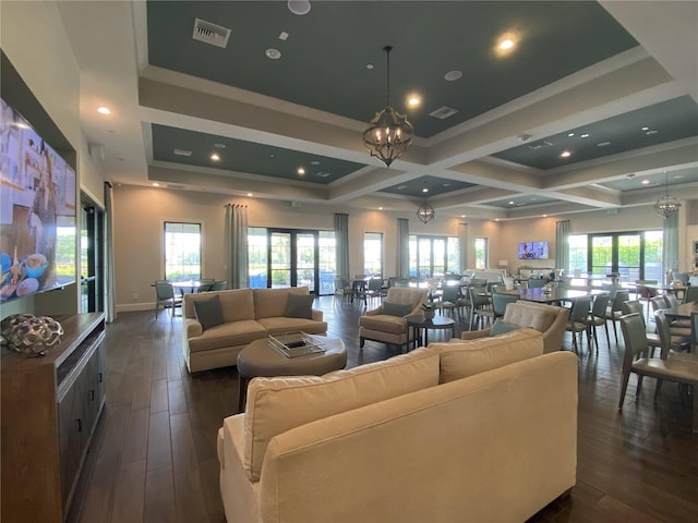
[[[325,313],[328,336],[347,344],[348,366],[397,354],[371,341],[359,350],[358,307],[332,296],[315,307]],[[181,329],[169,312],[157,320],[152,312],[122,313],[108,326],[107,405],[69,521],[225,522],[216,433],[236,412],[238,376],[234,367],[191,376]],[[698,522],[690,401],[665,384],[654,404],[654,382],[646,378],[636,402],[631,377],[618,413],[622,345],[613,331],[610,346],[600,339],[599,355],[586,341],[579,355],[577,486],[531,521]],[[569,335],[564,349],[571,349]]]

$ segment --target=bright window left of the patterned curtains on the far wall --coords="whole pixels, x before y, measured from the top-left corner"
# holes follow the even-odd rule
[[[201,223],[165,222],[165,279],[201,279]]]

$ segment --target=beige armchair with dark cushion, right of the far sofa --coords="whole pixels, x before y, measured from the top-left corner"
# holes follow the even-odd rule
[[[365,340],[380,341],[393,345],[404,346],[410,341],[405,318],[407,316],[420,314],[422,303],[426,302],[428,289],[413,289],[405,287],[393,287],[388,289],[388,294],[377,308],[366,311],[365,315],[359,318],[359,346],[363,349]],[[406,314],[397,316],[396,313],[404,305]]]

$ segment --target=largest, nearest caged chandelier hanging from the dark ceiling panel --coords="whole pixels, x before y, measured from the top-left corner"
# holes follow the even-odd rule
[[[407,117],[399,114],[390,106],[390,50],[393,46],[385,46],[383,50],[387,57],[387,105],[381,112],[376,112],[371,125],[363,132],[363,145],[371,156],[381,158],[387,167],[400,157],[412,143],[414,130]]]

